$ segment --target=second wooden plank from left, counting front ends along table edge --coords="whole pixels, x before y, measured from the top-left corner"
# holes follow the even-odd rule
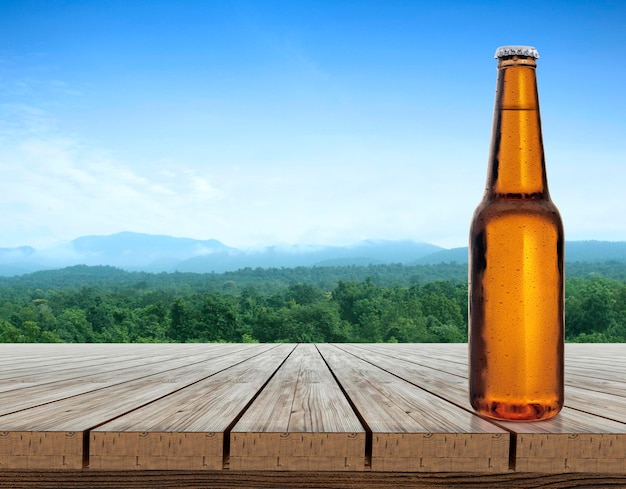
[[[293,348],[279,345],[93,429],[90,469],[222,469],[228,428]]]

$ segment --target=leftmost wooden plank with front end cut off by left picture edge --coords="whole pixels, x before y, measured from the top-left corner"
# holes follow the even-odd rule
[[[125,382],[0,416],[0,469],[79,469],[93,427],[273,348],[247,345],[228,357]]]

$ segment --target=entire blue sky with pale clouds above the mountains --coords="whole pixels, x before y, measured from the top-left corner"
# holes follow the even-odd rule
[[[505,44],[566,239],[626,240],[626,2],[0,0],[0,247],[465,246]]]

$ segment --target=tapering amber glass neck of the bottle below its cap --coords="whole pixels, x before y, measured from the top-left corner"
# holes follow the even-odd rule
[[[536,66],[530,57],[498,60],[487,180],[492,198],[548,198]]]

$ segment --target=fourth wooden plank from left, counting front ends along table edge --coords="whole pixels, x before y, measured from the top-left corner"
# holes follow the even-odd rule
[[[338,348],[318,347],[372,431],[373,471],[509,470],[505,430]]]

